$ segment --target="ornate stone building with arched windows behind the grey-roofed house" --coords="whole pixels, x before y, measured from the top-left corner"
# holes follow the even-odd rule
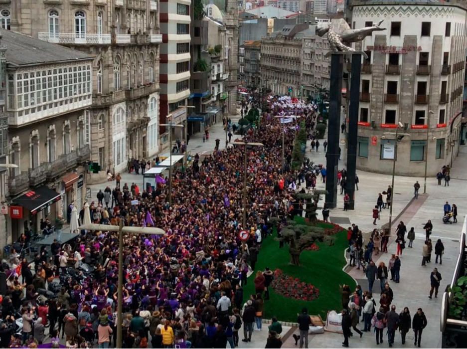
[[[159,151],[156,0],[2,1],[14,31],[95,56],[89,108],[91,160],[118,173]]]

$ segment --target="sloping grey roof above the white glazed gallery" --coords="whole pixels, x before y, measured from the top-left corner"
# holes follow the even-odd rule
[[[93,59],[92,56],[50,42],[0,28],[6,61],[16,66]]]

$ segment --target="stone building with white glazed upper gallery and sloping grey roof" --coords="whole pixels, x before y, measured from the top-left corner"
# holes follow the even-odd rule
[[[40,232],[41,218],[53,224],[58,215],[67,217],[72,202],[82,207],[90,159],[93,57],[9,30],[0,29],[0,34],[6,59],[1,85],[6,86],[7,156],[16,166],[9,170],[5,195],[10,242],[26,228]]]

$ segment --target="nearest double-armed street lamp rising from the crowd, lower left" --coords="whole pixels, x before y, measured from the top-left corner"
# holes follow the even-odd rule
[[[119,233],[119,280],[118,280],[118,296],[117,296],[117,343],[116,348],[122,348],[122,322],[123,322],[123,233],[131,234],[149,234],[149,235],[165,235],[165,231],[160,228],[152,227],[124,227],[123,219],[120,219],[120,225],[107,224],[83,224],[79,229],[83,230],[102,230],[102,231],[118,231]]]

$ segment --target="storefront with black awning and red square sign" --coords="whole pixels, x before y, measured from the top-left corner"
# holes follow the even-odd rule
[[[57,215],[54,203],[60,198],[58,192],[42,185],[13,199],[10,206],[12,241],[16,241],[25,229],[40,233],[41,219],[49,218],[53,225]]]

